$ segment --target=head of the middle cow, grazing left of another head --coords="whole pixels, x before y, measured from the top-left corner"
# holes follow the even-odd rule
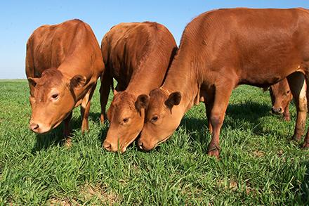
[[[110,128],[103,146],[112,152],[124,153],[143,129],[145,108],[149,97],[140,95],[138,98],[126,91],[114,92],[114,99],[107,111]]]

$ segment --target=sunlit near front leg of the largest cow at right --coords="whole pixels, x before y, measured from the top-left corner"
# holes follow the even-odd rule
[[[228,80],[227,80],[228,82]],[[230,99],[230,94],[234,85],[224,84],[215,86],[214,98],[213,98],[213,107],[210,112],[210,122],[213,128],[211,134],[211,142],[208,146],[208,154],[211,156],[219,157],[220,146],[219,146],[219,135],[221,127],[224,120],[224,115],[226,108],[228,108],[228,101]]]

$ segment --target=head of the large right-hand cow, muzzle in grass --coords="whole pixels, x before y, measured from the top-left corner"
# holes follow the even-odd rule
[[[169,94],[162,89],[155,89],[150,92],[145,123],[138,140],[141,149],[151,150],[169,139],[184,115],[180,101],[181,94],[178,91]]]

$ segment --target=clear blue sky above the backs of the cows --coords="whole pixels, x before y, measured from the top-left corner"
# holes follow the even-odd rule
[[[272,1],[1,1],[0,79],[25,78],[25,49],[30,34],[45,24],[79,18],[91,25],[98,41],[119,22],[162,23],[179,43],[185,25],[214,8],[309,8],[308,0]]]

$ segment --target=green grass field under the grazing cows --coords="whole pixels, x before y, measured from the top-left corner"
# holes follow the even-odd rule
[[[101,148],[98,87],[90,131],[81,135],[79,108],[73,145],[63,127],[38,136],[28,129],[26,81],[0,82],[1,205],[308,205],[309,151],[291,142],[296,120],[270,114],[270,96],[252,86],[232,94],[221,132],[221,160],[206,155],[210,141],[204,104],[150,153],[136,143],[126,153]]]

